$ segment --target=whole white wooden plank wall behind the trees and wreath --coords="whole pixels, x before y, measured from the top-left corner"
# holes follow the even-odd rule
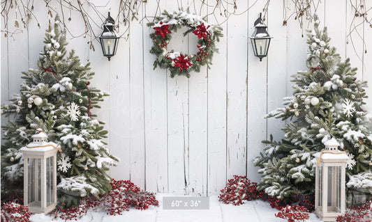
[[[103,6],[103,15],[108,10],[119,10],[118,1],[94,2]],[[153,16],[164,9],[177,10],[179,6],[187,8],[191,3],[161,0],[159,10],[156,1],[148,1],[140,6],[138,17]],[[201,2],[195,3],[199,9]],[[34,3],[41,29],[31,19],[28,30],[8,38],[1,35],[1,103],[19,93],[22,71],[37,68],[47,28],[44,4]],[[148,191],[200,196],[218,193],[235,174],[248,175],[258,182],[260,175],[252,159],[260,153],[261,141],[269,134],[276,139],[283,136],[280,129],[284,125],[281,120],[265,120],[263,116],[282,106],[285,95],[292,95],[290,75],[306,70],[306,38],[302,38],[297,21],[291,19],[288,26],[282,26],[283,4],[292,8],[292,1],[271,1],[267,12],[269,33],[274,37],[267,58],[260,62],[248,40],[265,1],[239,1],[237,13],[241,15],[231,16],[221,24],[224,37],[216,44],[219,54],[214,55],[214,64],[209,70],[191,73],[190,79],[172,79],[168,71],[153,70],[155,56],[149,54],[149,33],[153,30],[142,24],[146,19],[131,23],[128,40],[119,41],[117,55],[110,62],[101,54],[98,41],[94,42],[96,51],[92,51],[87,39],[68,35],[68,49],[75,49],[82,63],[90,62],[96,72],[91,84],[110,92],[102,109],[94,112],[106,122],[110,151],[121,159],[119,166],[110,171],[112,177],[132,180]],[[89,10],[89,6],[84,7]],[[208,9],[204,6],[197,13],[207,15]],[[325,0],[318,6],[331,45],[337,47],[342,58],[351,58],[352,66],[358,68],[358,78],[372,84],[372,29],[358,26],[352,33],[353,46],[348,36],[352,13],[346,0]],[[224,17],[207,19],[216,24]],[[101,20],[97,18],[97,22]],[[76,19],[70,22],[70,29],[78,32],[84,26]],[[357,35],[364,38],[366,45]],[[195,45],[194,36],[184,37],[179,31],[172,35],[169,47],[195,53]],[[372,96],[371,88],[367,95]],[[372,111],[372,100],[366,102],[365,108]],[[1,117],[1,124],[6,121]]]

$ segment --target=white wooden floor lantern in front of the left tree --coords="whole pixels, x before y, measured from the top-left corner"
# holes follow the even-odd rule
[[[57,205],[57,145],[39,132],[21,148],[24,159],[24,205],[33,213],[51,212]]]

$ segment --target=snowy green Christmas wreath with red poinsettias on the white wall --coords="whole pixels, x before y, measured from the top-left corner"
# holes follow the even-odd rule
[[[174,11],[162,13],[164,17],[155,17],[154,22],[147,25],[154,27],[155,32],[150,34],[154,42],[150,53],[157,56],[154,61],[154,69],[160,67],[170,70],[170,77],[184,75],[190,77],[190,72],[200,72],[200,66],[211,64],[211,59],[216,49],[216,41],[223,36],[221,27],[208,24],[198,15],[186,13],[184,11]],[[184,54],[179,51],[168,51],[167,45],[172,39],[171,33],[175,33],[181,26],[186,26],[188,30],[184,33],[194,33],[198,36],[198,53]]]

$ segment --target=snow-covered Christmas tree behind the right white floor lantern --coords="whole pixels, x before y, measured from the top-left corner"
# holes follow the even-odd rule
[[[329,46],[327,28],[320,30],[318,17],[314,18],[314,29],[307,35],[308,70],[292,76],[295,91],[283,98],[285,108],[266,116],[293,121],[283,127],[281,142],[271,136],[254,159],[262,174],[258,188],[279,199],[314,193],[316,154],[329,137],[348,153],[349,176],[372,168],[371,116],[362,109],[366,82],[356,79],[357,69],[350,67],[349,59],[341,61]]]

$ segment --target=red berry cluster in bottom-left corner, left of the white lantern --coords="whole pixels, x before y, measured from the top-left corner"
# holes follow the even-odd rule
[[[31,214],[29,207],[14,203],[13,201],[1,205],[1,222],[28,222]]]

